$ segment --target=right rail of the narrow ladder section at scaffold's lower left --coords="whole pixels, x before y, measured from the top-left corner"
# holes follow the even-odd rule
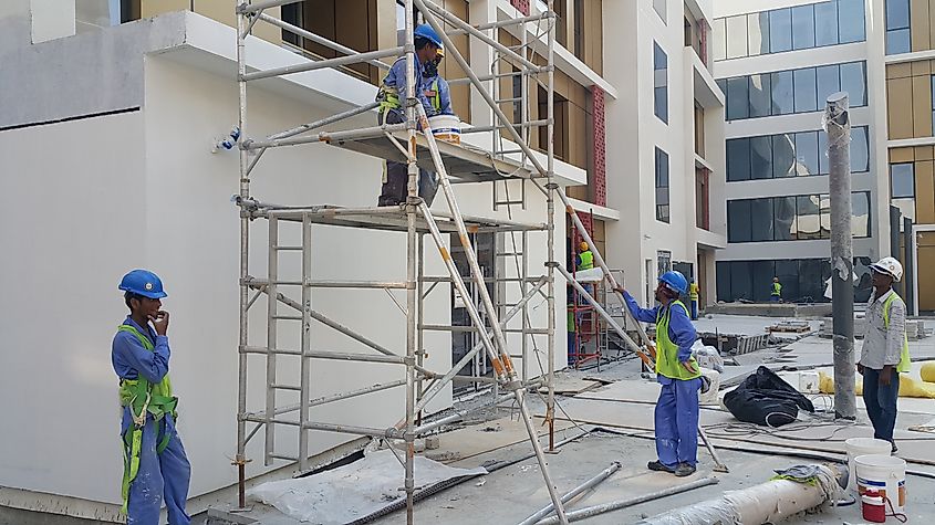
[[[309,399],[311,399],[310,366],[312,349],[312,287],[309,281],[312,279],[312,219],[308,213],[302,216],[302,357],[299,372],[299,402],[302,408],[299,412],[299,470],[309,470],[309,430],[305,423],[309,422]],[[272,295],[271,297],[274,297]],[[279,301],[273,301],[278,303]]]

